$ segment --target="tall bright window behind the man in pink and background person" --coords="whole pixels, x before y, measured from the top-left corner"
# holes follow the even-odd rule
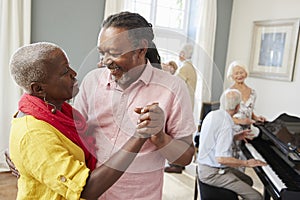
[[[197,48],[195,40],[200,27],[200,5],[201,0],[126,0],[123,9],[139,13],[152,23],[154,42],[161,61],[172,60],[180,67],[179,52],[182,46],[185,43],[193,43]],[[196,63],[198,58],[200,56],[197,57]],[[199,102],[202,98],[202,88],[202,76],[198,74],[195,96]],[[199,107],[195,105],[194,116],[197,119]],[[198,123],[197,121],[195,123]]]

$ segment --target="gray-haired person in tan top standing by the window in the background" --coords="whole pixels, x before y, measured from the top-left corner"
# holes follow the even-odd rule
[[[194,68],[191,58],[193,55],[194,47],[192,44],[185,44],[179,52],[179,60],[181,62],[181,68],[177,76],[179,76],[189,90],[190,100],[194,109],[195,90],[197,85],[197,72]],[[165,167],[165,172],[168,173],[182,173],[184,166],[169,163],[169,166]]]

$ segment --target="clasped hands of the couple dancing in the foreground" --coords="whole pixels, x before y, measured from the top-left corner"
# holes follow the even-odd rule
[[[136,131],[140,136],[148,138],[162,131],[165,116],[158,103],[152,103],[143,108],[135,108],[134,111],[140,114],[136,126]]]

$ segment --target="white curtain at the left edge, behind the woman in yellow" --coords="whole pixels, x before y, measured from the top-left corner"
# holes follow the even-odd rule
[[[30,43],[31,0],[0,0],[0,151],[8,148],[10,123],[21,91],[9,73],[9,59]]]

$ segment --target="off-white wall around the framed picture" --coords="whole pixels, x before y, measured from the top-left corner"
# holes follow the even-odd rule
[[[227,65],[242,60],[249,65],[253,21],[300,18],[298,0],[234,0]],[[300,116],[300,51],[296,55],[294,80],[275,81],[249,77],[247,84],[256,89],[255,113],[273,120],[281,113]],[[225,87],[229,83],[225,82]]]

